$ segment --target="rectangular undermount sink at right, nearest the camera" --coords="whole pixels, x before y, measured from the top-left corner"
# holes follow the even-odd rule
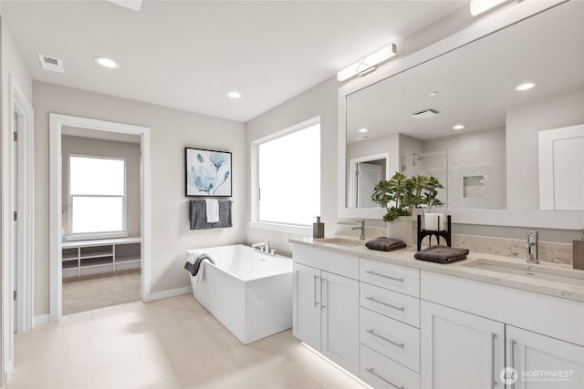
[[[463,266],[485,271],[496,271],[510,275],[517,275],[532,280],[535,279],[584,286],[584,271],[572,271],[568,269],[558,269],[552,267],[548,268],[545,265],[496,261],[486,258],[479,258],[474,261],[469,261],[464,263]]]

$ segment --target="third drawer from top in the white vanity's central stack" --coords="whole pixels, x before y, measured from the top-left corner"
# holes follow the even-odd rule
[[[420,330],[360,308],[360,343],[420,373]]]

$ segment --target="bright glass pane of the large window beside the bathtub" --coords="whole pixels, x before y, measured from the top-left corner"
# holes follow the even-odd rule
[[[310,225],[320,214],[320,123],[285,132],[257,144],[257,220]]]

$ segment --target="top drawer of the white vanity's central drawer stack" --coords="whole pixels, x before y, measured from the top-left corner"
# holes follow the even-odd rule
[[[391,291],[420,297],[420,271],[400,265],[360,258],[359,279]]]

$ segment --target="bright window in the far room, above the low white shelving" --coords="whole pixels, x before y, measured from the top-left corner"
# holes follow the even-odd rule
[[[69,156],[69,226],[72,234],[126,229],[126,161]]]

